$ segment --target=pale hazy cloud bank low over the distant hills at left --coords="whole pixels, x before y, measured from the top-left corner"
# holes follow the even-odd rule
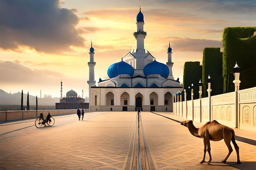
[[[30,69],[15,62],[0,62],[0,89],[4,91],[18,92],[22,89],[29,91],[31,95],[39,95],[40,90],[53,97],[59,96],[60,82],[63,82],[63,95],[72,88],[79,92],[88,91],[85,79],[74,78],[49,70]],[[81,82],[81,83],[74,83]],[[57,95],[56,95],[57,94]]]

